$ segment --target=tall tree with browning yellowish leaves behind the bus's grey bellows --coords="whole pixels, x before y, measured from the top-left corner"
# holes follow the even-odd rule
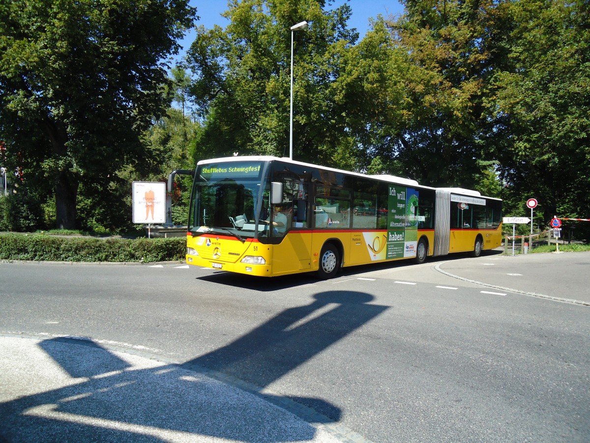
[[[408,54],[401,136],[389,147],[404,175],[430,185],[474,187],[494,160],[492,122],[484,114],[495,53],[493,0],[406,0],[389,25]],[[381,154],[383,157],[388,152]]]

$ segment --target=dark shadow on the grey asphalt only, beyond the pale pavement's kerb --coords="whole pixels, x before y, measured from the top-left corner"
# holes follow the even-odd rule
[[[372,300],[363,292],[320,292],[312,303],[288,308],[227,346],[182,366],[207,367],[266,387],[387,309],[368,304]],[[327,402],[293,399],[330,419],[340,418],[341,411]]]

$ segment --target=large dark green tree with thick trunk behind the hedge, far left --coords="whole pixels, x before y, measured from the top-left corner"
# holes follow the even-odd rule
[[[76,227],[78,191],[113,204],[140,134],[168,107],[165,59],[192,25],[188,0],[1,0],[0,138],[55,185],[57,226]],[[83,187],[81,187],[83,184]]]

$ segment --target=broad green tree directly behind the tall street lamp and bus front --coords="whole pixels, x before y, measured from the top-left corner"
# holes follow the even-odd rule
[[[325,7],[317,0],[231,1],[225,30],[197,29],[186,62],[204,118],[201,155],[289,154],[290,27],[305,20],[309,28],[294,33],[294,158],[349,158],[355,144],[334,88],[358,34],[346,27],[348,5]]]

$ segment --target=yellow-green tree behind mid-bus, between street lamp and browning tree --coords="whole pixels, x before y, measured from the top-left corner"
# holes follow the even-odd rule
[[[331,87],[345,118],[353,170],[409,176],[399,156],[409,113],[408,79],[421,70],[399,47],[382,17],[358,44],[343,52],[343,69]],[[414,80],[417,81],[417,80]]]

